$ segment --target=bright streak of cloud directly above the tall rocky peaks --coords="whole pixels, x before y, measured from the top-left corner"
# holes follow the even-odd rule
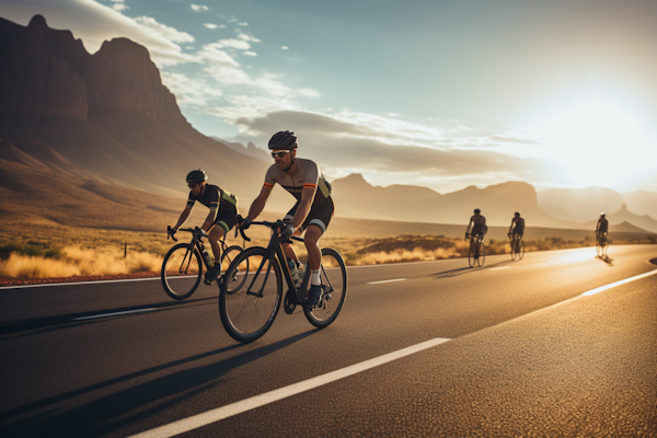
[[[161,28],[145,26],[92,0],[0,2],[0,16],[21,25],[27,25],[36,13],[44,15],[53,28],[70,30],[92,54],[101,48],[104,41],[123,36],[146,46],[159,67],[196,61],[193,56],[184,54],[177,44],[164,37]]]

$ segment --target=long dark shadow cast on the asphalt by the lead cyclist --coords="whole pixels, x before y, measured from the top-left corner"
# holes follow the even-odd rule
[[[237,348],[249,348],[246,345],[238,344],[229,347],[219,348],[200,355],[192,356],[185,359],[175,360],[170,364],[152,367],[142,371],[132,372],[116,379],[111,379],[102,383],[81,388],[60,395],[45,399],[35,403],[20,406],[10,411],[0,413],[0,422],[3,436],[50,436],[51,431],[59,431],[62,436],[91,437],[102,434],[108,434],[123,426],[147,418],[153,414],[162,412],[168,407],[183,403],[204,391],[222,384],[222,377],[232,369],[244,366],[251,361],[261,359],[267,355],[286,348],[308,336],[311,336],[318,328],[298,334],[287,339],[274,344],[264,345],[255,349],[244,351],[241,355],[230,357],[210,365],[195,368],[186,368],[180,371],[171,372],[166,376],[139,383],[139,378],[145,378],[161,371],[170,370],[174,367],[188,365],[196,360],[205,359]],[[264,377],[266,380],[266,377]],[[74,401],[72,399],[87,395],[93,391],[107,389],[115,384],[130,384],[130,388],[122,389],[110,395],[102,396],[92,402]],[[58,403],[84,403],[82,405],[66,408],[66,405]],[[230,402],[230,401],[229,401]],[[189,406],[187,406],[189,407]],[[38,411],[38,412],[35,412]],[[177,411],[176,411],[177,412]],[[32,414],[31,414],[32,413]],[[188,413],[186,408],[181,408],[177,415]],[[25,416],[25,414],[27,416]],[[8,419],[20,416],[18,422],[12,422],[9,426]],[[166,422],[173,422],[180,418],[166,418]]]

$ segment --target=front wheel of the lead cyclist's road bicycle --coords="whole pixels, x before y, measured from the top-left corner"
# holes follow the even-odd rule
[[[280,308],[280,266],[266,249],[250,247],[235,257],[226,276],[243,276],[244,279],[233,284],[221,283],[221,323],[233,339],[241,343],[253,342],[267,333]]]

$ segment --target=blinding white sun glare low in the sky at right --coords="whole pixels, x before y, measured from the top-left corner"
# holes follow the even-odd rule
[[[537,128],[546,146],[543,158],[570,184],[630,186],[654,171],[657,136],[616,102],[575,102],[542,117]]]

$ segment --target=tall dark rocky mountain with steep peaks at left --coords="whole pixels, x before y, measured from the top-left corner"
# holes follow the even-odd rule
[[[27,26],[0,19],[0,65],[2,159],[164,196],[185,197],[184,177],[199,168],[244,204],[262,187],[269,163],[194,129],[129,39],[90,55],[41,15]]]

